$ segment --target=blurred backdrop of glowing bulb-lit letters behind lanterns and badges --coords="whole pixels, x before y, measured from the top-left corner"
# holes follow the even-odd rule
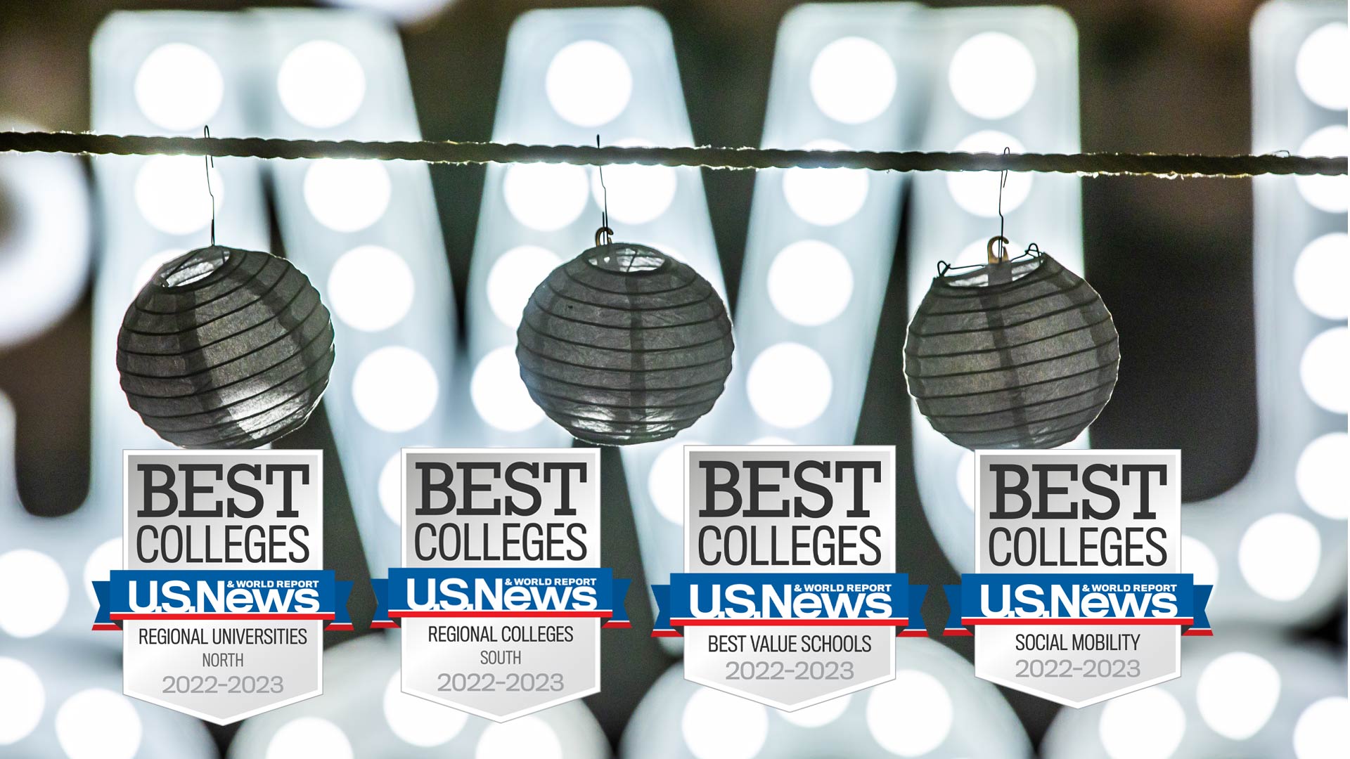
[[[294,5],[5,4],[0,127],[1346,149],[1338,1]],[[0,154],[0,756],[1311,759],[1343,748],[1343,178],[1014,176],[1006,190],[1014,244],[1037,242],[1084,273],[1114,313],[1120,380],[1091,446],[1183,451],[1183,560],[1218,590],[1216,636],[1185,642],[1181,681],[1061,710],[976,681],[968,639],[934,637],[898,643],[896,683],[810,714],[695,689],[678,650],[643,633],[651,610],[636,589],[679,569],[678,458],[666,455],[678,448],[656,444],[603,452],[603,562],[634,578],[634,629],[605,636],[603,691],[585,706],[504,728],[451,716],[397,691],[396,640],[328,633],[325,696],[208,728],[116,696],[117,636],[88,632],[85,598],[88,579],[120,560],[119,451],[162,446],[126,408],[112,340],[154,265],[207,243],[201,170],[200,159]],[[590,246],[595,176],[250,159],[216,172],[220,242],[285,254],[335,312],[323,412],[275,447],[324,450],[327,566],[356,581],[362,631],[366,581],[397,548],[387,462],[398,446],[568,444],[517,388],[513,319],[544,273]],[[996,234],[998,176],[614,167],[606,181],[618,236],[695,265],[734,313],[736,374],[678,442],[896,446],[899,566],[954,582],[973,543],[969,462],[913,411],[902,347],[934,263],[973,261]],[[35,579],[20,589],[18,577]],[[1157,729],[1130,727],[1141,721]]]

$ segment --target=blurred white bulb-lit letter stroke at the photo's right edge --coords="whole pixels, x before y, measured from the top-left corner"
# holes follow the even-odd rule
[[[1253,153],[1346,154],[1343,3],[1268,3],[1251,23]],[[1328,136],[1330,135],[1330,136]],[[1296,625],[1346,593],[1346,177],[1258,177],[1253,239],[1257,451],[1185,508],[1187,571],[1210,619]]]

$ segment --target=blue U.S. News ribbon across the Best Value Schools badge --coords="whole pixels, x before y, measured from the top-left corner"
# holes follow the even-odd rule
[[[919,610],[926,585],[903,573],[675,573],[653,585],[653,637],[684,627],[894,627],[926,636]]]

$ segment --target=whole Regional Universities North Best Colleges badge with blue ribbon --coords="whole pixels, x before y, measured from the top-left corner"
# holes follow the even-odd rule
[[[323,569],[320,451],[124,451],[123,567],[94,581],[123,693],[225,725],[323,693],[351,629]]]

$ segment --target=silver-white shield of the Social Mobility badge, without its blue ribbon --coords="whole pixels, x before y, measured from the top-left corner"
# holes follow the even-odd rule
[[[990,463],[1017,463],[1026,466],[1030,471],[1033,463],[1069,463],[1076,461],[1079,471],[1092,463],[1107,465],[1164,465],[1166,466],[1166,485],[1157,483],[1157,475],[1150,474],[1149,508],[1157,515],[1153,520],[1133,520],[1130,515],[1138,506],[1135,496],[1139,493],[1139,477],[1131,478],[1131,485],[1125,488],[1118,479],[1114,486],[1120,494],[1120,511],[1111,520],[1048,520],[1031,519],[1030,515],[1021,519],[988,519],[988,512],[995,505],[995,479],[990,471]],[[1179,573],[1181,571],[1181,451],[1115,451],[1115,450],[1050,450],[1050,451],[976,451],[975,452],[975,571],[976,573],[1015,573],[1015,574],[1145,574],[1145,573]],[[1094,482],[1104,482],[1094,478]],[[1056,496],[1056,511],[1064,508],[1069,501],[1081,502],[1084,497],[1100,502],[1103,498],[1089,493],[1083,488],[1081,478],[1069,482],[1065,474],[1052,475],[1052,488],[1066,488],[1066,494]],[[1035,474],[1027,482],[1027,493],[1031,496],[1033,509],[1037,504],[1038,483]],[[1166,548],[1168,560],[1160,567],[1021,567],[1013,563],[998,567],[990,562],[988,542],[990,531],[995,527],[1004,527],[1017,531],[1019,527],[1034,529],[1045,528],[1046,543],[1044,548],[1050,556],[1060,556],[1060,528],[1065,528],[1068,544],[1064,546],[1064,555],[1079,556],[1079,527],[1089,524],[1094,527],[1161,527],[1166,529],[1166,536],[1160,543]],[[1065,642],[1073,635],[1139,635],[1137,651],[1017,651],[1015,640],[1018,635],[1029,633],[1062,633]],[[1071,644],[1069,644],[1071,646]],[[1080,667],[1073,677],[1017,677],[1022,670],[1019,660],[1069,660],[1075,667]],[[1138,660],[1139,673],[1137,677],[1083,677],[1084,662],[1092,660]],[[1096,664],[1094,664],[1096,667]],[[1115,671],[1115,667],[1111,667]],[[1181,628],[1179,625],[976,625],[975,627],[975,674],[991,682],[1031,693],[1041,698],[1064,704],[1065,706],[1088,706],[1116,696],[1130,693],[1173,679],[1181,674]],[[1141,729],[1145,729],[1141,725]]]

